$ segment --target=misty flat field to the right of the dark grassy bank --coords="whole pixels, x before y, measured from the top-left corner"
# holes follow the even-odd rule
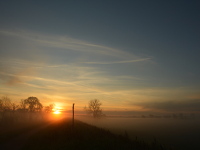
[[[160,143],[180,150],[200,148],[200,119],[165,118],[103,118],[78,117],[89,124],[128,134],[145,141],[158,140]]]

